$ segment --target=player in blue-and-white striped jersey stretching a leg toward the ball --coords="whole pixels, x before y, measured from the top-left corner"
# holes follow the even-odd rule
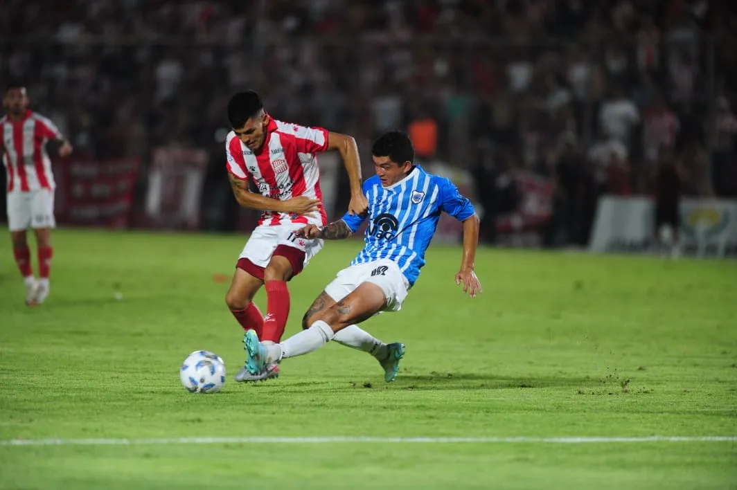
[[[472,298],[481,293],[481,283],[474,273],[478,217],[471,202],[447,178],[413,164],[414,149],[405,133],[385,133],[374,142],[371,153],[376,175],[363,183],[367,213],[346,214],[324,227],[306,225],[296,232],[308,239],[344,239],[368,218],[363,250],[312,303],[302,320],[302,332],[282,343],[259,342],[254,330],[246,333],[245,368],[254,376],[264,374],[270,363],[316,351],[335,340],[376,357],[384,369],[384,379],[393,381],[405,346],[385,344],[357,323],[402,308],[425,265],[425,250],[443,211],[463,223],[463,257],[455,282],[463,284],[464,292]]]

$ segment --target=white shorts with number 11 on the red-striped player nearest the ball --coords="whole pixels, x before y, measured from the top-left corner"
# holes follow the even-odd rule
[[[256,226],[248,242],[245,242],[243,251],[238,256],[239,259],[248,259],[259,267],[269,265],[271,256],[276,247],[286,245],[287,247],[296,248],[298,251],[304,252],[304,263],[302,268],[306,267],[310,259],[317,255],[323,247],[321,239],[304,239],[294,235],[294,231],[304,228],[304,224],[290,223],[287,225]]]

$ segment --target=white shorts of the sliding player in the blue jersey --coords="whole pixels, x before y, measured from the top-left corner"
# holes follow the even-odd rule
[[[384,292],[385,312],[398,312],[407,298],[410,283],[399,270],[397,262],[379,259],[366,264],[357,264],[341,270],[335,279],[325,287],[335,301],[340,301],[353,292],[362,282],[376,284]]]

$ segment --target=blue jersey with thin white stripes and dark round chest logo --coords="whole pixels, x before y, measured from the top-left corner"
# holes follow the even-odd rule
[[[473,205],[447,178],[425,172],[417,165],[401,181],[383,187],[374,175],[363,183],[368,216],[343,216],[351,231],[368,217],[363,250],[351,265],[390,259],[397,262],[412,285],[425,265],[425,251],[433,239],[441,211],[459,221],[474,214]]]

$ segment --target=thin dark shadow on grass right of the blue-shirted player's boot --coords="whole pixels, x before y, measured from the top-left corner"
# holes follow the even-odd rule
[[[590,382],[591,379],[585,377],[504,377],[495,374],[472,373],[400,374],[400,377],[397,377],[397,385],[410,390],[467,390],[469,388],[506,390],[566,386],[579,388]]]

